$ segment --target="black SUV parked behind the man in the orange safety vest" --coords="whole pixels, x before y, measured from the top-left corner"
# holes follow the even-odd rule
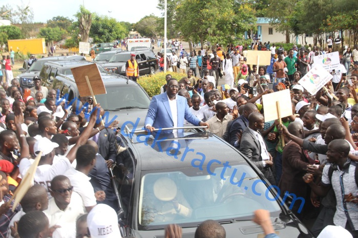
[[[101,64],[108,72],[125,76],[125,63],[135,54],[138,62],[139,75],[154,74],[158,69],[157,59],[152,51],[122,51],[116,53],[108,63]]]

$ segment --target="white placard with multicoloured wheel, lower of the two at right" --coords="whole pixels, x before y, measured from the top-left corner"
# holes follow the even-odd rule
[[[314,67],[300,79],[299,84],[314,95],[332,78],[333,76],[321,65],[314,65]]]

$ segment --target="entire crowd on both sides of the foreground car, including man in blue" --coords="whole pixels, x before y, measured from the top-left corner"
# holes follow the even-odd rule
[[[177,42],[172,43],[175,47]],[[329,50],[265,47],[271,51],[267,67],[245,63],[251,46],[228,45],[226,52],[222,47],[212,52],[201,47],[190,55],[185,49],[178,55],[173,51],[167,65],[187,75],[182,79],[166,75],[161,94],[152,98],[144,127],[149,132],[207,127],[251,160],[280,189],[281,197],[306,200],[302,211],[300,203],[291,210],[300,219],[315,219],[311,228],[315,236],[358,237],[358,61],[350,76],[343,64],[349,57],[358,60],[358,47],[352,53],[347,50],[346,61],[330,72],[333,79],[325,85],[327,90],[315,95],[299,80],[314,65],[313,56]],[[5,60],[5,66],[9,64],[10,58]],[[225,77],[223,85],[219,85],[221,77]],[[12,79],[0,89],[0,235],[120,237],[120,208],[110,175],[118,163],[118,121],[103,126],[98,115],[104,110],[94,105],[92,97],[69,105],[40,78],[33,81],[34,87],[21,88]],[[271,83],[276,83],[273,88]],[[282,118],[282,124],[265,122],[264,111],[270,108],[263,107],[262,97],[286,89],[292,115]],[[12,195],[39,152],[35,185],[12,207]],[[255,211],[254,222],[266,237],[278,237],[267,211]],[[181,237],[177,225],[165,231],[167,237]],[[225,230],[208,220],[197,228],[195,237],[224,238]]]

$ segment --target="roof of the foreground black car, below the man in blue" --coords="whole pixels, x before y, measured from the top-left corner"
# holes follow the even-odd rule
[[[212,159],[222,163],[228,161],[230,164],[247,163],[240,152],[209,132],[186,132],[178,133],[177,136],[173,133],[161,133],[159,136],[151,135],[150,138],[148,142],[144,142],[142,133],[133,135],[129,140],[140,157],[137,161],[141,164],[142,171],[193,168],[192,160],[197,158],[199,164],[199,159],[203,157],[206,157],[203,168]],[[138,140],[142,142],[137,142]]]

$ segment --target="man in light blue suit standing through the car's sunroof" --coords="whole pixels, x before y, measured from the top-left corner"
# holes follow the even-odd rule
[[[146,130],[153,131],[155,128],[183,127],[184,118],[195,126],[207,126],[189,110],[187,100],[177,95],[179,84],[176,79],[167,82],[166,92],[154,96],[149,105],[144,125]],[[172,133],[173,130],[165,130],[163,133]],[[178,130],[183,132],[183,130]]]

